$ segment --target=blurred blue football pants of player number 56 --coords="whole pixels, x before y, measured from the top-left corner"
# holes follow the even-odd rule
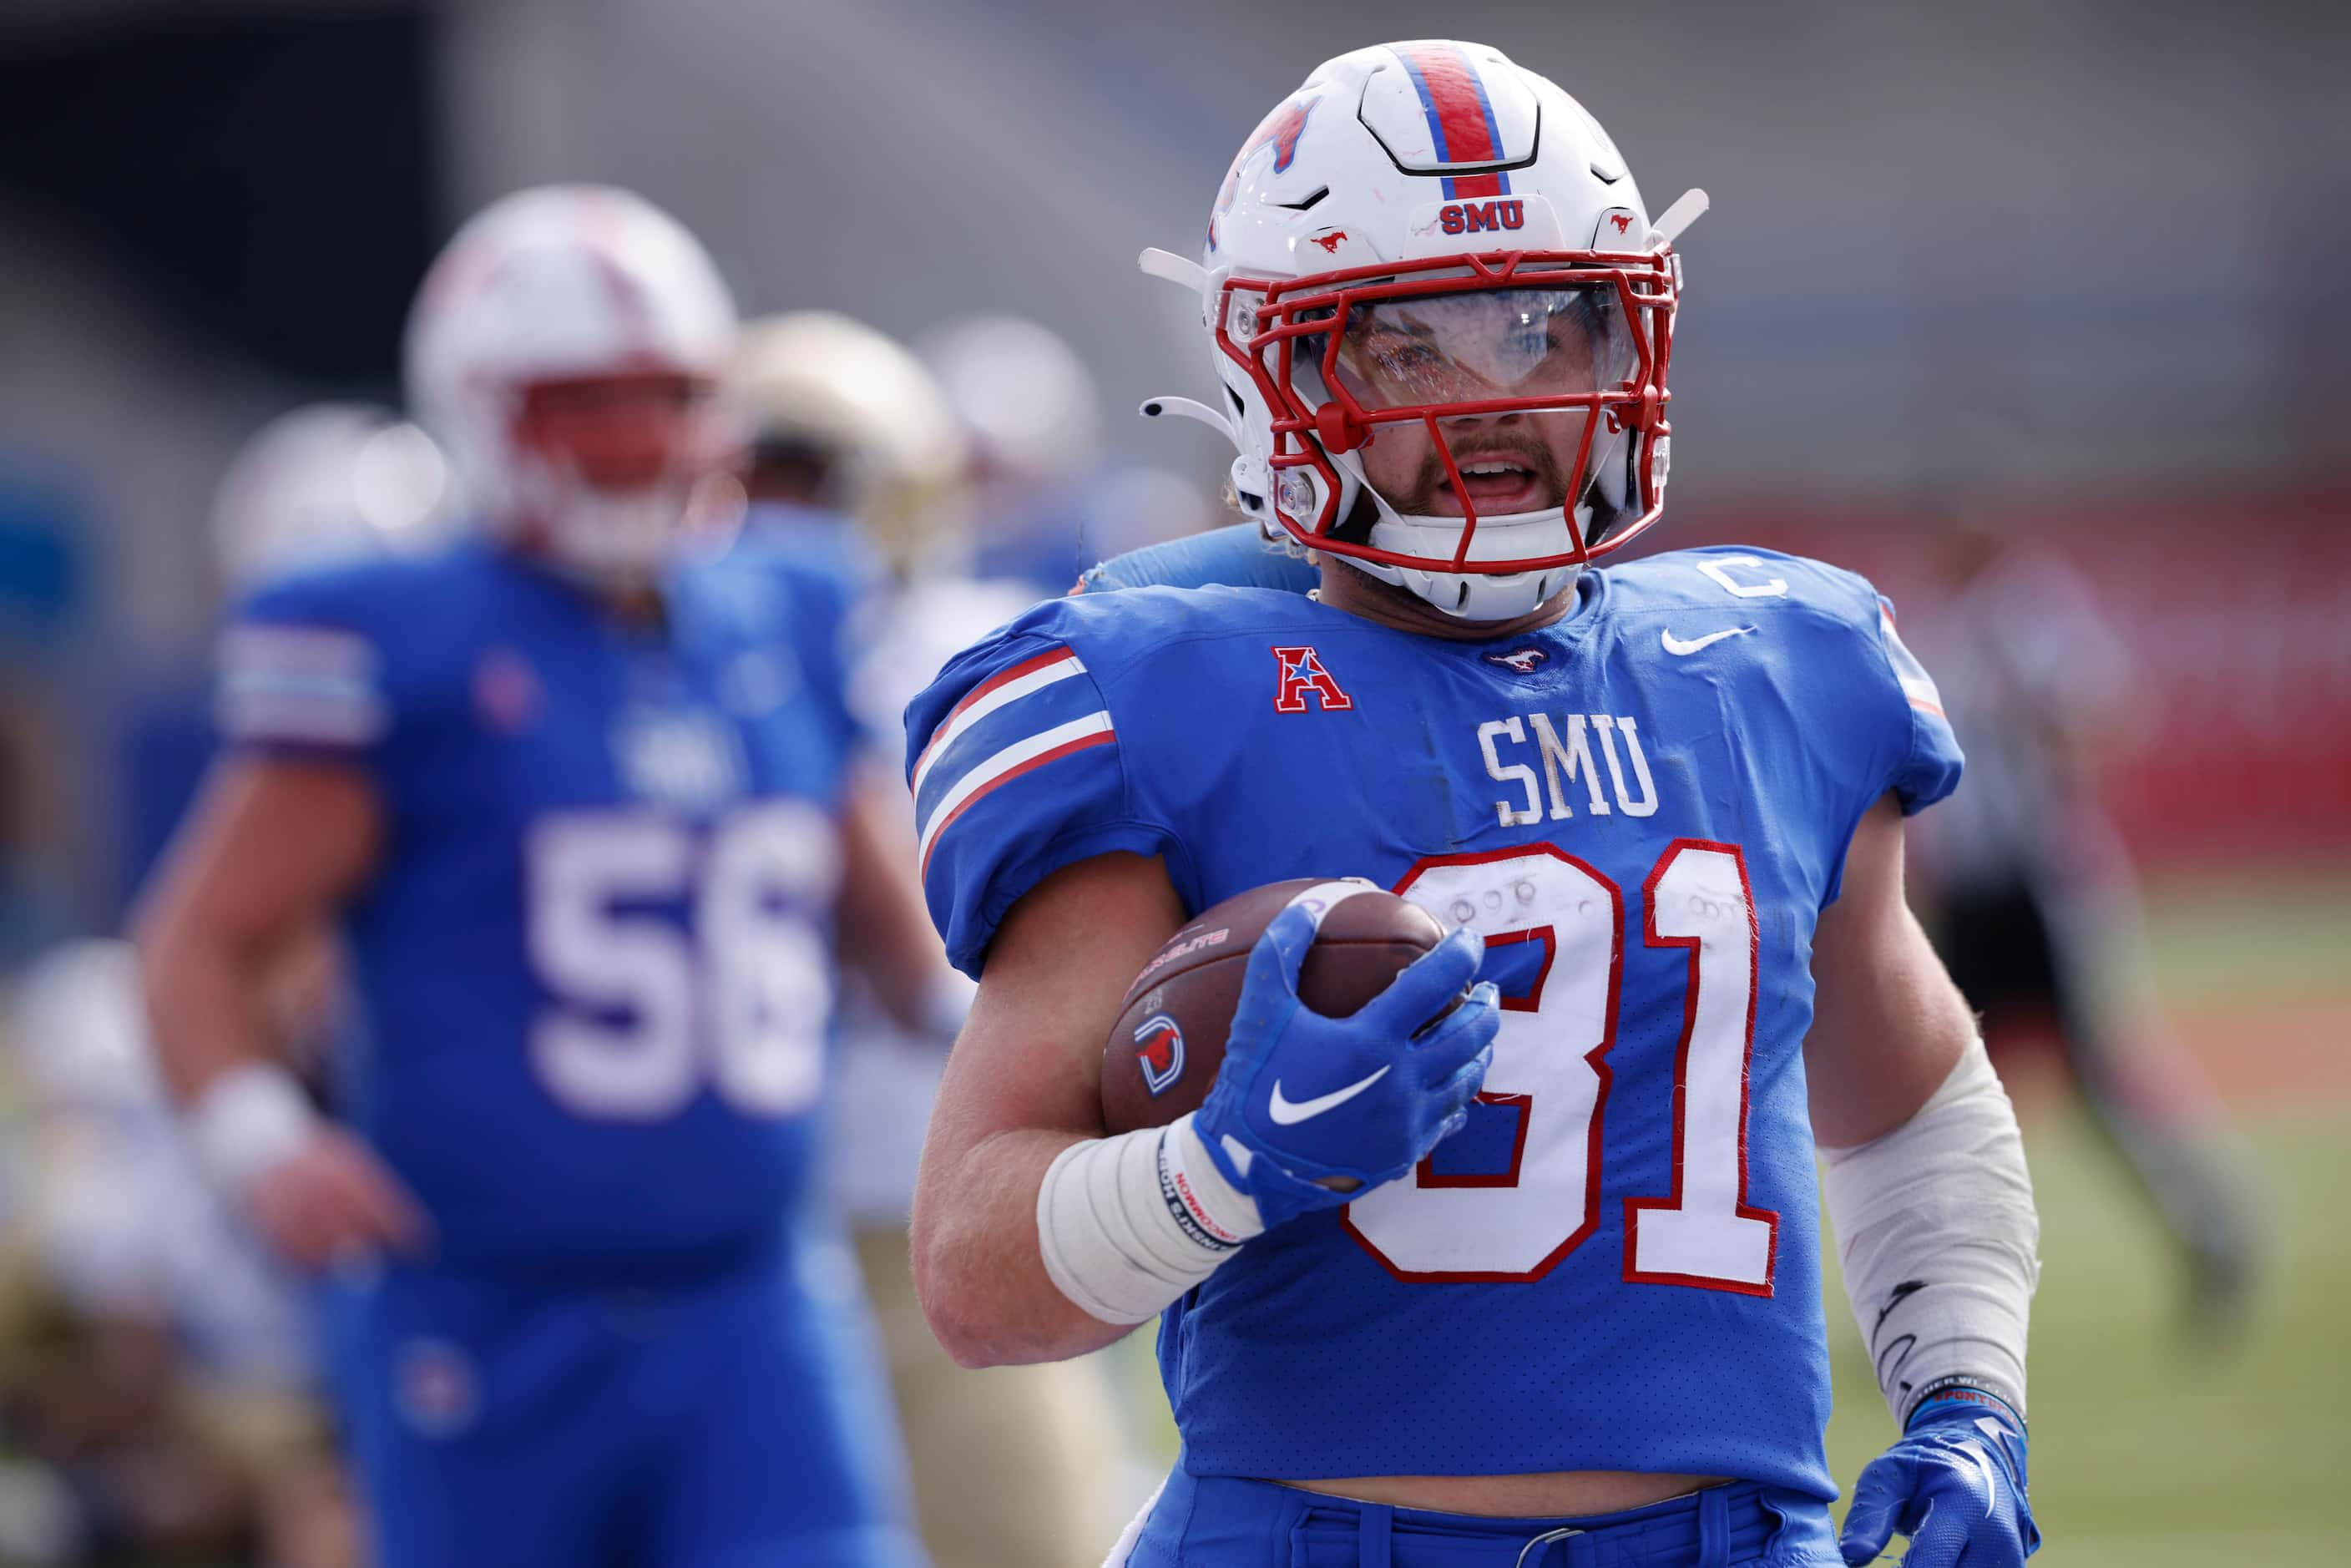
[[[844,1248],[804,1244],[661,1288],[334,1286],[376,1566],[919,1568],[846,1281]]]

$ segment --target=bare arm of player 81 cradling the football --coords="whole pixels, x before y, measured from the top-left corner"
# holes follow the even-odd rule
[[[915,1185],[915,1288],[964,1366],[1058,1361],[1128,1328],[1046,1276],[1037,1190],[1063,1150],[1103,1135],[1103,1039],[1180,924],[1157,860],[1098,856],[1046,877],[997,929]]]

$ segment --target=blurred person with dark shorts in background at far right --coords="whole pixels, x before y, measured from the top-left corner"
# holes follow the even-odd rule
[[[2097,797],[2142,724],[2130,654],[2057,550],[1951,510],[1921,628],[1968,788],[1921,818],[1923,903],[1994,1051],[2055,1030],[2092,1121],[2186,1267],[2196,1333],[2238,1324],[2262,1251],[2226,1110],[2165,1027],[2130,856]]]

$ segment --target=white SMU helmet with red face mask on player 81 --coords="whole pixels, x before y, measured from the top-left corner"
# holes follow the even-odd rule
[[[1274,534],[1465,621],[1526,614],[1657,520],[1690,193],[1653,226],[1615,143],[1500,49],[1319,66],[1241,146],[1201,266],[1232,487]]]

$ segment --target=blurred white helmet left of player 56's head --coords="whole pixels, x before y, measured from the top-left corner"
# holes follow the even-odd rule
[[[428,550],[449,536],[454,484],[433,437],[390,409],[315,402],[254,433],[212,494],[212,552],[233,590],[263,578]]]

